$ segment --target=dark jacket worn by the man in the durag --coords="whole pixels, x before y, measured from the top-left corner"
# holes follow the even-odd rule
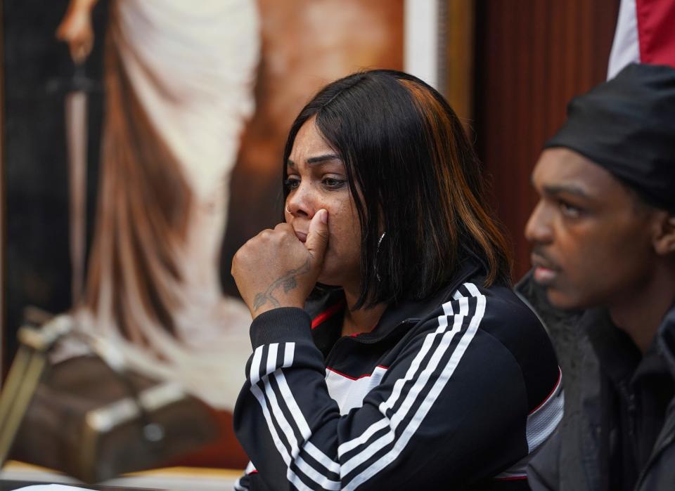
[[[625,335],[603,313],[556,310],[531,273],[516,291],[548,327],[565,374],[565,415],[528,467],[532,490],[675,490],[675,307],[628,373]]]

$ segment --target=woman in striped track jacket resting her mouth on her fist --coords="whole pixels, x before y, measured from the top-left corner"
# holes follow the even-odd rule
[[[232,267],[254,349],[238,489],[527,489],[560,371],[446,101],[390,70],[335,81],[284,166],[285,223]]]

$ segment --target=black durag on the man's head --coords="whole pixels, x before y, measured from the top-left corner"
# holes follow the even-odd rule
[[[567,122],[544,147],[579,152],[645,201],[675,212],[675,70],[628,65],[572,99]]]

